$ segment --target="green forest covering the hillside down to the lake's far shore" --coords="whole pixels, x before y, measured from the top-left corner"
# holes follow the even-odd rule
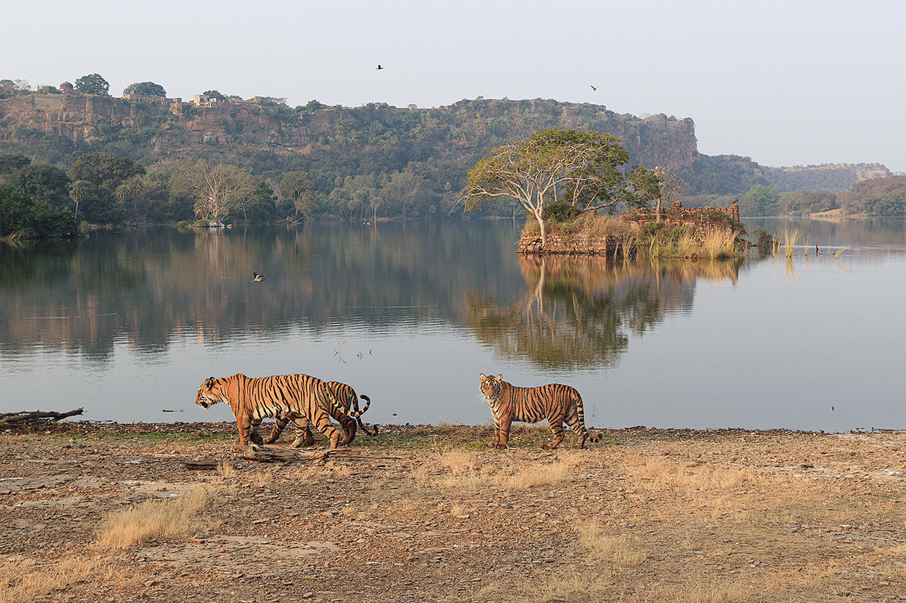
[[[109,96],[107,82],[97,73],[77,80],[75,88]],[[150,81],[130,84],[123,92],[166,94]],[[0,99],[57,93],[53,86],[32,90],[26,81],[0,81]],[[219,91],[205,95],[238,99]],[[622,136],[630,141],[630,165],[641,158],[662,162],[661,168],[677,163],[686,193],[679,198],[686,206],[728,206],[738,200],[741,215],[804,215],[835,208],[849,214],[902,214],[901,177],[865,180],[849,192],[779,193],[793,182],[788,174],[781,181],[770,177],[774,168],[750,158],[700,155],[688,118],[640,119],[602,106],[540,99],[479,97],[425,110],[386,103],[329,107],[319,101],[291,109],[284,99],[259,101],[251,109],[226,102],[217,108],[186,105],[181,112],[139,102],[129,124],[99,122],[96,136],[83,140],[28,127],[0,113],[0,152],[5,153],[0,183],[29,196],[37,204],[34,211],[45,218],[48,211],[69,211],[77,223],[430,218],[456,207],[467,170],[492,148],[565,126]],[[203,142],[180,143],[200,128],[207,132]],[[838,190],[851,177],[841,170],[824,172],[835,178],[832,188]],[[496,204],[490,213],[516,215],[516,204]]]

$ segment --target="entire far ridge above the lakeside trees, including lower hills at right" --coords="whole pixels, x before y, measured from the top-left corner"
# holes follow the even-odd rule
[[[545,99],[463,99],[442,107],[400,109],[318,101],[290,108],[282,99],[147,95],[123,98],[29,93],[0,99],[0,153],[22,153],[68,168],[82,154],[110,152],[145,166],[207,158],[265,177],[311,172],[329,194],[336,179],[411,171],[438,196],[450,196],[465,173],[492,148],[548,128],[606,132],[622,139],[631,165],[679,168],[690,195],[742,195],[754,185],[777,192],[843,192],[856,182],[889,177],[881,164],[770,168],[748,157],[706,156],[695,124],[663,113],[641,117],[604,105]]]

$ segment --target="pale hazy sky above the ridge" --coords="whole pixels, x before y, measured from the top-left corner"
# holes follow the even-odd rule
[[[32,0],[3,16],[0,79],[33,87],[100,73],[117,96],[155,81],[291,107],[593,102],[690,117],[708,155],[906,170],[902,0]]]

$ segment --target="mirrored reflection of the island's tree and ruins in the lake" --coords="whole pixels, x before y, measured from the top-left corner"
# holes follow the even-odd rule
[[[519,302],[468,293],[468,323],[477,339],[505,358],[591,369],[614,366],[631,333],[690,310],[697,279],[736,282],[739,263],[521,256],[520,267],[526,287]]]

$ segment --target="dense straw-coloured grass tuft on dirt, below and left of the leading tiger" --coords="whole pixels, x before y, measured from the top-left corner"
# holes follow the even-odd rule
[[[199,486],[166,501],[147,501],[113,512],[98,532],[102,549],[128,549],[157,538],[185,538],[205,523],[198,515],[220,492],[217,486]]]

